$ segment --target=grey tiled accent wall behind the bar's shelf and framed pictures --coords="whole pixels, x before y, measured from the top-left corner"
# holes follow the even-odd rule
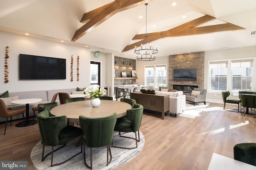
[[[125,68],[124,68],[125,67]],[[136,70],[136,60],[126,59],[122,57],[114,57],[115,76],[122,77],[121,72],[126,72],[126,75],[132,77],[132,70]],[[114,80],[114,85],[135,84],[136,80]]]

